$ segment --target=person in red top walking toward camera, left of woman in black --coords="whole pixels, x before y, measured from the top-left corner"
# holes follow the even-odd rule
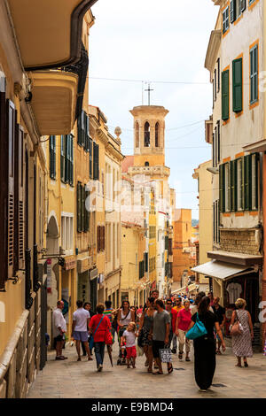
[[[179,354],[178,358],[183,358],[183,351],[184,351],[184,339],[185,339],[185,353],[186,361],[190,361],[189,358],[190,351],[191,351],[191,340],[185,338],[185,335],[188,331],[188,328],[192,322],[192,312],[190,309],[190,301],[188,299],[184,300],[184,309],[178,312],[177,320],[176,320],[176,336],[178,336],[179,342]]]

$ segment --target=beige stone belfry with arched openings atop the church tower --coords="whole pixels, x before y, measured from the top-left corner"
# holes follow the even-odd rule
[[[139,105],[130,112],[134,117],[134,166],[164,166],[168,110],[160,105]]]

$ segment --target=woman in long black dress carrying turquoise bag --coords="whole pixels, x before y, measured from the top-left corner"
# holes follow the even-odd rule
[[[214,327],[221,338],[223,351],[225,351],[225,343],[219,321],[215,313],[209,311],[209,308],[210,298],[203,297],[198,305],[198,312],[192,316],[192,323],[189,327],[189,329],[192,328],[199,317],[207,330],[206,335],[202,335],[194,340],[195,380],[200,387],[200,391],[209,389],[215,374],[216,349]]]

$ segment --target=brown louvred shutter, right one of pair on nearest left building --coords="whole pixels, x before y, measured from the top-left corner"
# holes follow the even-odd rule
[[[15,211],[14,211],[14,241],[15,241],[15,271],[23,268],[24,260],[24,131],[16,125],[15,141]]]

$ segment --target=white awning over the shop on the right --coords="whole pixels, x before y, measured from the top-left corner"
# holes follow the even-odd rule
[[[203,265],[193,267],[192,272],[205,274],[216,279],[227,279],[235,274],[245,272],[249,268],[248,266],[237,266],[223,261],[211,260]]]

